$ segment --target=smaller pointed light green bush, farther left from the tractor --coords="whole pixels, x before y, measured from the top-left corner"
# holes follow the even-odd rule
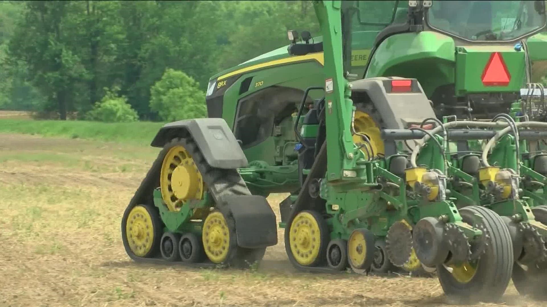
[[[87,120],[102,122],[132,122],[138,120],[137,112],[127,103],[127,97],[117,95],[118,87],[114,88],[113,91],[109,91],[108,88],[104,90],[106,95],[86,114]]]

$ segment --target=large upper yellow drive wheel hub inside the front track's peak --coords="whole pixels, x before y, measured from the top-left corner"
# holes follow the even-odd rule
[[[160,174],[161,196],[169,211],[179,211],[185,201],[202,199],[203,178],[183,146],[173,146],[165,155]]]

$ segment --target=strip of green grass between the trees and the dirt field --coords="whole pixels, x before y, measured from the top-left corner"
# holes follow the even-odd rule
[[[0,120],[0,133],[23,133],[149,146],[163,122],[102,123],[59,120]]]

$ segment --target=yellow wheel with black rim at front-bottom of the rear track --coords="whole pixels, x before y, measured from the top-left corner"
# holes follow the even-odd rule
[[[299,212],[290,223],[289,231],[290,256],[298,264],[316,267],[324,261],[329,243],[329,230],[319,212]]]

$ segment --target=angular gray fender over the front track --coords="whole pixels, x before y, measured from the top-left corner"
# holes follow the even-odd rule
[[[247,157],[224,119],[203,118],[166,123],[154,137],[153,147],[163,147],[177,137],[194,139],[207,163],[214,168],[246,167]]]

